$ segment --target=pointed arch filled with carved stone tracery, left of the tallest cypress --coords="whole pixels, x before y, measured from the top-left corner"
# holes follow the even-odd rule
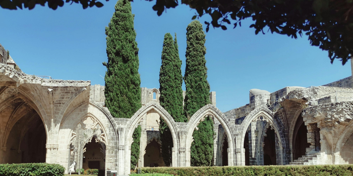
[[[63,118],[62,125],[58,134],[61,162],[60,164],[68,167],[73,160],[71,159],[71,146],[74,145],[75,159],[77,168],[83,165],[83,150],[86,142],[94,137],[100,143],[104,144],[105,152],[105,170],[117,170],[117,144],[119,130],[115,120],[110,114],[95,102],[80,103],[74,106]],[[63,162],[66,160],[65,162]]]

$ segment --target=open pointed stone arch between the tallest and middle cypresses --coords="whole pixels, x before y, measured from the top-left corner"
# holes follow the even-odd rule
[[[120,141],[120,144],[125,146],[125,174],[130,173],[130,160],[131,160],[131,144],[133,142],[132,135],[141,122],[143,115],[146,114],[150,110],[154,110],[156,113],[160,115],[160,117],[165,121],[168,125],[172,140],[173,140],[173,147],[179,148],[180,141],[178,140],[178,127],[175,123],[174,119],[170,116],[170,114],[159,104],[156,102],[149,102],[145,106],[142,106],[129,120],[128,124],[126,125],[125,134],[122,138],[123,140]],[[172,153],[172,166],[177,166],[177,156]]]

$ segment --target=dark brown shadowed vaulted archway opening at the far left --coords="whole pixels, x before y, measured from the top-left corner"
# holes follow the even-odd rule
[[[0,163],[45,162],[47,129],[31,100],[21,87],[0,86]]]

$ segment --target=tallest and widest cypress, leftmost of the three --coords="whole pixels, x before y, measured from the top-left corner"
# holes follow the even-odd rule
[[[119,0],[105,28],[108,63],[105,73],[105,106],[115,118],[131,118],[141,108],[141,79],[134,29],[134,15],[127,0]],[[140,153],[141,127],[135,129],[131,147],[131,168],[135,168]]]

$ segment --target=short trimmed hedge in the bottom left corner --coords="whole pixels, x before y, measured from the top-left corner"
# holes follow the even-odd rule
[[[63,176],[64,172],[65,168],[60,164],[0,164],[0,176]]]

